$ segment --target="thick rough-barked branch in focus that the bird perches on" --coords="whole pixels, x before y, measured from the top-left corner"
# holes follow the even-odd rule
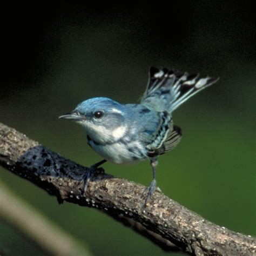
[[[254,238],[210,223],[159,191],[142,208],[145,187],[105,174],[103,169],[95,171],[84,191],[87,167],[1,123],[0,164],[56,196],[60,203],[98,208],[166,251],[177,250],[173,244],[192,255],[252,255],[256,251]]]

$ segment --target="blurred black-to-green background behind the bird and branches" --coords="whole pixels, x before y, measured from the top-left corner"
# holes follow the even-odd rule
[[[0,122],[82,165],[101,158],[86,145],[82,127],[59,120],[60,114],[90,97],[136,103],[150,65],[219,76],[217,84],[174,112],[184,136],[159,158],[158,186],[220,226],[256,235],[255,15],[249,1],[23,3],[2,11]],[[144,185],[152,178],[146,161],[107,163],[104,169]],[[94,209],[58,205],[2,168],[0,178],[95,255],[164,254]],[[28,240],[0,219],[0,248],[45,255],[23,239]],[[20,244],[27,246],[19,250]]]

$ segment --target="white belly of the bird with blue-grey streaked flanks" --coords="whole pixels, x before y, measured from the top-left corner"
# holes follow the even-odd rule
[[[104,159],[116,164],[135,164],[147,158],[146,150],[137,142],[98,145],[91,140],[89,144]]]

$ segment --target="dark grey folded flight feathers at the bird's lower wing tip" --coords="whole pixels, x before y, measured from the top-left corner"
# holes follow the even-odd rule
[[[156,157],[159,154],[164,154],[170,150],[172,150],[181,139],[181,129],[179,126],[174,125],[173,129],[167,133],[167,137],[164,142],[157,148],[151,149],[147,152],[147,156]]]

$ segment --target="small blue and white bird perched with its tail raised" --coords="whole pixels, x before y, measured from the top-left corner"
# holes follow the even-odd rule
[[[85,189],[91,172],[106,161],[134,164],[148,159],[153,179],[143,193],[146,205],[157,188],[158,157],[171,151],[182,137],[180,127],[173,123],[173,111],[218,80],[218,77],[200,78],[197,73],[151,66],[139,104],[120,104],[110,98],[95,97],[60,116],[82,125],[87,144],[104,158],[90,168]]]

